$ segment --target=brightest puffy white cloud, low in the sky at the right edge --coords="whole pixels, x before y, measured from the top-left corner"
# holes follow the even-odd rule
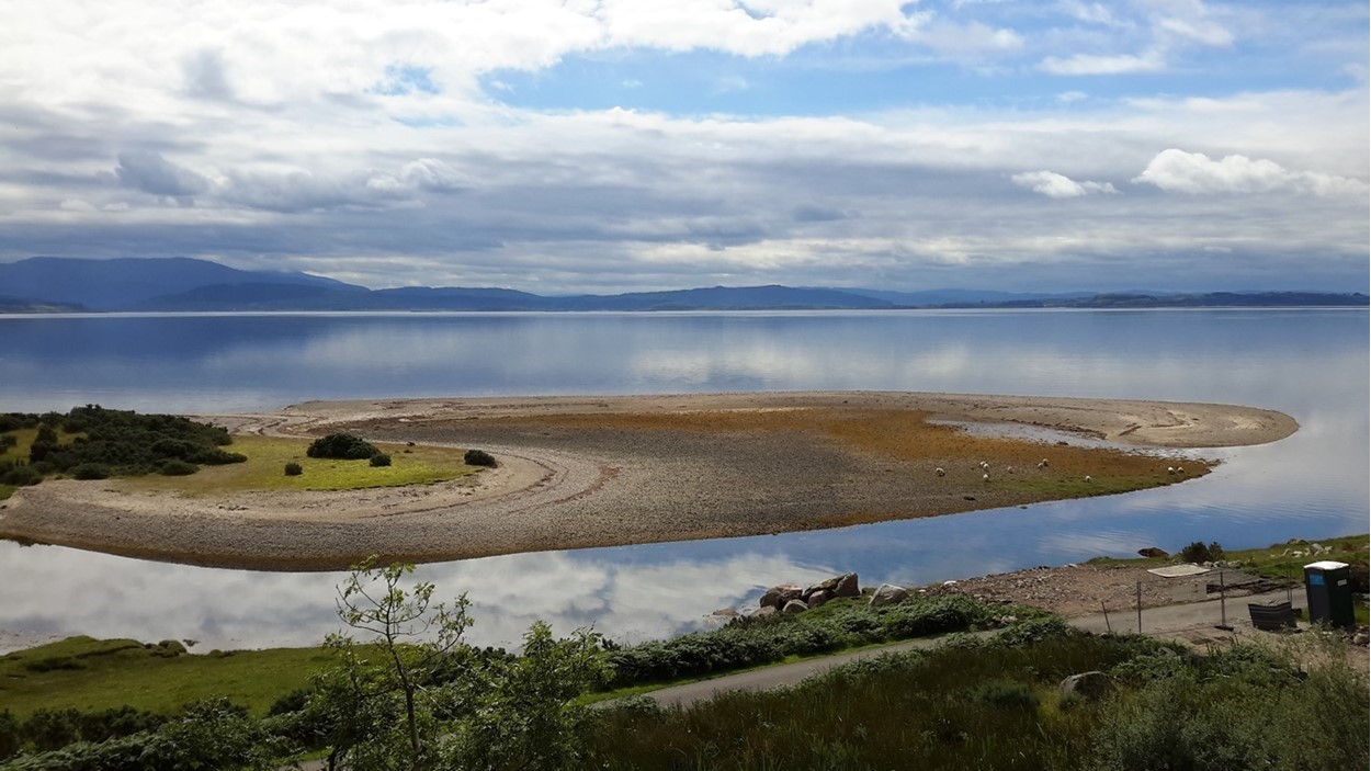
[[[1264,158],[1226,155],[1215,161],[1202,152],[1176,148],[1158,152],[1132,181],[1189,195],[1286,191],[1330,196],[1367,191],[1366,182],[1359,180],[1316,171],[1290,171]]]

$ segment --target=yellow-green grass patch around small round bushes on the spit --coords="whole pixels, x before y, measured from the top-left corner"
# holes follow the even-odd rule
[[[247,455],[247,462],[206,466],[192,476],[144,476],[130,479],[129,484],[191,495],[250,490],[359,490],[451,482],[480,471],[462,462],[463,450],[452,447],[377,444],[391,455],[391,465],[373,466],[365,460],[311,458],[304,454],[308,446],[308,439],[236,436],[233,450]],[[299,464],[302,473],[287,476],[284,469],[288,462]]]

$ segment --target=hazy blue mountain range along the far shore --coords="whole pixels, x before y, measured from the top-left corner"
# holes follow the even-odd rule
[[[251,310],[880,310],[906,307],[1304,307],[1367,306],[1323,292],[1013,294],[894,292],[825,287],[710,287],[621,295],[544,296],[514,289],[367,289],[307,273],[239,270],[192,258],[34,257],[0,263],[0,313]]]

